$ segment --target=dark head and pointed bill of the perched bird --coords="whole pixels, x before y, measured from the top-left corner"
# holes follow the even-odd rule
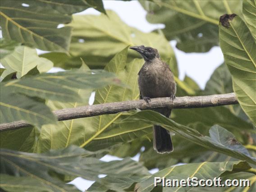
[[[130,47],[132,50],[136,50],[139,52],[139,54],[142,55],[145,61],[151,61],[155,58],[160,58],[160,55],[157,51],[157,49],[154,49],[152,47],[145,47],[145,46],[133,46]]]

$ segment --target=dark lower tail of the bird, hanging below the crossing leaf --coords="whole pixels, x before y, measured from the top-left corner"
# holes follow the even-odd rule
[[[153,129],[155,151],[161,154],[172,152],[174,147],[169,131],[159,125],[154,125]]]

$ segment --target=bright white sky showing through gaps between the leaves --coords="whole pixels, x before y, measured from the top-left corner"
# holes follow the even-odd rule
[[[151,32],[157,28],[164,28],[164,24],[151,24],[146,21],[146,11],[142,8],[137,0],[134,1],[114,1],[104,0],[105,9],[114,10],[123,22],[127,23],[131,27],[136,27],[142,32]],[[100,14],[95,9],[87,9],[78,14]],[[175,27],[175,26],[174,26]],[[213,47],[207,53],[184,53],[181,50],[176,49],[176,41],[171,41],[170,45],[174,49],[176,59],[178,61],[179,78],[183,80],[185,74],[194,79],[198,85],[204,89],[206,82],[209,80],[213,71],[224,62],[223,54],[219,47]],[[93,95],[90,103],[92,103]],[[132,158],[138,161],[139,155]],[[120,158],[105,155],[101,160],[121,160]],[[158,169],[153,169],[150,172],[153,174]],[[99,178],[105,175],[99,175]],[[93,181],[88,181],[83,178],[76,178],[72,182],[78,189],[85,191],[91,186]]]

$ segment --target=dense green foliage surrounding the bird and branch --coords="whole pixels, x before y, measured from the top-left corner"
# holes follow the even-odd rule
[[[155,175],[194,175],[206,179],[248,178],[252,185],[248,190],[253,191],[255,1],[140,1],[148,22],[165,24],[163,30],[151,33],[128,26],[114,12],[107,11],[105,16],[101,1],[3,2],[1,123],[24,119],[35,126],[1,133],[3,189],[75,191],[65,183],[82,177],[96,180],[89,191],[151,191]],[[71,16],[88,7],[103,14]],[[225,13],[238,14],[229,28],[218,26],[219,16]],[[66,23],[65,27],[56,28],[60,23]],[[220,43],[225,64],[215,70],[204,90],[192,78],[178,79],[180,72],[170,40],[176,40],[177,48],[187,53],[207,52]],[[174,110],[174,121],[150,111],[132,111],[56,123],[50,110],[87,105],[91,91],[96,91],[95,104],[138,99],[137,72],[143,60],[127,47],[141,44],[156,47],[173,69],[177,96],[234,90],[240,105]],[[34,48],[51,52],[38,57]],[[72,70],[43,73],[53,66]],[[112,73],[94,70],[92,75],[88,69]],[[14,73],[18,79],[10,80]],[[128,87],[115,84],[114,73]],[[173,153],[158,155],[153,151],[152,123],[176,133]],[[106,154],[124,159],[106,163],[100,160]],[[139,163],[129,158],[136,154]],[[178,163],[186,165],[175,166]],[[151,175],[148,169],[153,168],[160,171]],[[107,176],[99,178],[98,174]]]

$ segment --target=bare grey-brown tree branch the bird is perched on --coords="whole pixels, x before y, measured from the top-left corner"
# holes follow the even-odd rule
[[[151,99],[150,104],[146,104],[144,100],[136,101],[121,101],[114,103],[105,103],[97,105],[87,105],[76,108],[68,108],[62,110],[55,110],[53,113],[57,116],[59,121],[78,119],[84,117],[92,117],[102,114],[115,114],[122,111],[129,111],[135,109],[151,110],[155,108],[168,107],[170,109],[188,109],[188,108],[203,108],[214,107],[220,105],[234,105],[238,104],[238,100],[234,93],[210,95],[210,96],[184,96],[177,97],[173,102],[169,97]],[[0,132],[19,129],[31,126],[25,121],[15,121],[12,123],[0,124]]]

